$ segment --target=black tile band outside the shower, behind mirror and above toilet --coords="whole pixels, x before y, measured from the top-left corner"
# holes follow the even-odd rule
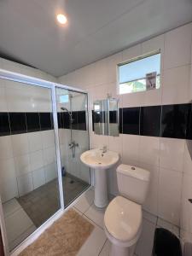
[[[192,103],[119,108],[119,133],[192,140]]]

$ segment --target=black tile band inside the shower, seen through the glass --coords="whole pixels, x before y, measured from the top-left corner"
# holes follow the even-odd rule
[[[73,112],[73,130],[86,131],[86,111]],[[70,129],[68,113],[57,113],[58,128]],[[0,112],[0,137],[54,129],[50,112]]]

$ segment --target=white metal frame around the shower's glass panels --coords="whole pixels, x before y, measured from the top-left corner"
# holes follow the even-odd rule
[[[61,88],[64,90],[72,90],[79,93],[84,93],[87,96],[87,108],[86,108],[86,128],[88,132],[89,137],[89,148],[90,148],[90,134],[89,134],[89,96],[88,93],[84,90],[80,90],[75,87],[71,87],[65,84],[58,84],[55,82],[50,82],[44,79],[37,79],[35,77],[27,76],[20,73],[10,72],[5,69],[0,68],[0,79],[5,80],[11,80],[15,82],[19,82],[21,84],[31,84],[33,86],[38,87],[44,87],[51,90],[51,104],[52,104],[52,113],[53,113],[53,120],[54,120],[54,132],[55,132],[55,153],[56,153],[56,166],[57,166],[57,173],[58,173],[58,183],[59,183],[59,192],[60,192],[60,204],[61,208],[55,212],[50,218],[48,218],[44,224],[42,224],[40,227],[38,227],[37,230],[35,230],[31,235],[26,237],[24,241],[21,241],[21,243],[15,247],[15,249],[12,252],[9,252],[9,242],[7,237],[7,230],[5,228],[5,222],[4,222],[4,216],[3,216],[3,207],[2,207],[2,201],[0,197],[0,229],[2,230],[2,240],[3,240],[3,249],[4,249],[4,256],[15,256],[18,253],[21,252],[22,249],[24,249],[26,246],[28,246],[32,241],[37,239],[38,236],[40,236],[44,230],[46,230],[50,224],[52,224],[57,218],[61,216],[63,212],[67,208],[65,208],[65,201],[64,201],[64,189],[62,186],[62,177],[61,177],[61,155],[60,155],[60,143],[59,143],[59,129],[58,129],[58,119],[57,119],[57,102],[56,102],[56,88]],[[90,186],[93,185],[93,177],[90,170]],[[88,187],[90,189],[90,187]],[[88,189],[85,189],[84,192]],[[84,193],[83,192],[83,193]],[[72,202],[69,206],[73,205],[75,201]]]

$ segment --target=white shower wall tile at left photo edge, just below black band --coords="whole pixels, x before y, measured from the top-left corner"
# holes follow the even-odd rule
[[[13,157],[13,149],[10,136],[0,137],[0,160]]]

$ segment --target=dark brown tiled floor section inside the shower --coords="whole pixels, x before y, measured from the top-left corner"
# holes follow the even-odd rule
[[[89,186],[88,183],[68,175],[63,177],[63,184],[66,205]],[[38,228],[60,208],[58,181],[55,179],[46,183],[17,200]]]

